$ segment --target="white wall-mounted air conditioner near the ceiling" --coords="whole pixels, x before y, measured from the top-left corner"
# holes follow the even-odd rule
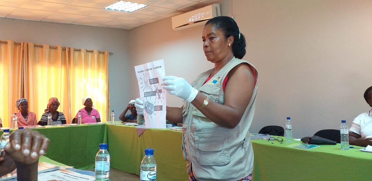
[[[184,30],[196,26],[205,25],[205,23],[216,16],[221,16],[219,4],[211,4],[197,10],[193,10],[182,15],[172,17],[172,28],[174,30]]]

